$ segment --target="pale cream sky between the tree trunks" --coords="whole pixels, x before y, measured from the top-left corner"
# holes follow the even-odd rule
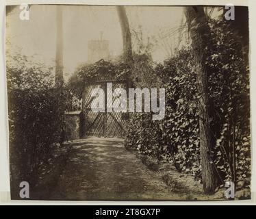
[[[47,65],[54,65],[55,28],[57,5],[32,5],[29,21],[21,21],[17,7],[6,18],[6,38],[10,53],[18,48],[23,55],[36,55]],[[64,31],[64,75],[71,75],[75,68],[88,60],[88,40],[109,40],[110,53],[120,55],[123,49],[122,34],[115,6],[62,5]],[[184,21],[183,8],[173,6],[127,6],[130,29],[142,30],[144,39],[155,38],[153,60],[162,62],[168,56],[168,45],[159,40],[167,35],[170,47],[177,38],[170,35]]]

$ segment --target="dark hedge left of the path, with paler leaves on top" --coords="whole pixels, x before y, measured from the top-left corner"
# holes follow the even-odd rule
[[[62,112],[52,68],[14,55],[7,63],[10,168],[12,185],[33,185],[37,171],[59,142]],[[18,185],[15,185],[18,188]]]

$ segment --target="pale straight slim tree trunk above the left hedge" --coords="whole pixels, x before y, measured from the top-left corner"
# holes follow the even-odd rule
[[[55,53],[55,86],[61,90],[63,78],[63,27],[62,27],[62,5],[57,5],[56,16],[56,53]]]

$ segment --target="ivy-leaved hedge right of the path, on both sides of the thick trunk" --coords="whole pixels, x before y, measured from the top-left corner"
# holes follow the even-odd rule
[[[227,31],[227,23],[210,21],[210,27],[213,44],[205,48],[205,66],[211,72],[210,125],[215,145],[211,163],[220,185],[227,180],[242,180],[244,186],[250,183],[251,176],[248,67],[242,57],[240,38],[234,31]],[[173,162],[179,171],[201,179],[197,101],[200,94],[196,89],[192,49],[181,49],[163,64],[149,68],[154,69],[161,86],[166,88],[166,116],[161,121],[151,120],[149,114],[132,116],[125,146]],[[143,85],[151,87],[147,81]]]

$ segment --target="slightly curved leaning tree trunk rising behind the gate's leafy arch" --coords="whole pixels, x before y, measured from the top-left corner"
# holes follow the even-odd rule
[[[132,49],[131,49],[131,31],[129,21],[125,12],[124,6],[116,6],[118,18],[122,29],[123,36],[123,57],[127,64],[133,64]]]

